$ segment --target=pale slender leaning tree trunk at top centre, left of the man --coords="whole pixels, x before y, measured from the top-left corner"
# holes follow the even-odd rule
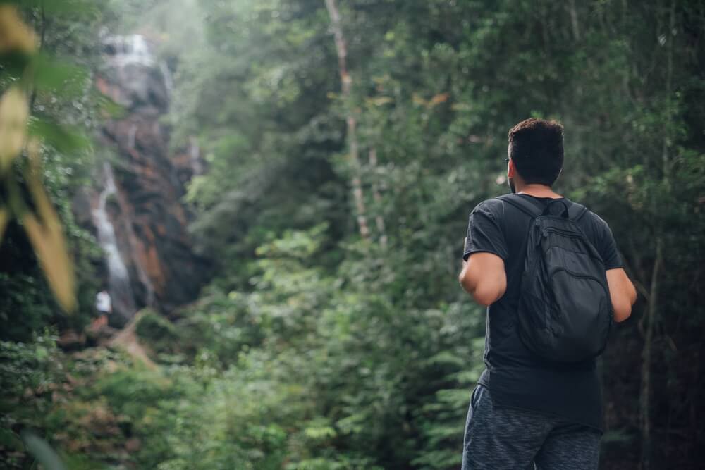
[[[369,227],[367,226],[367,214],[364,207],[364,194],[362,193],[362,180],[360,178],[360,157],[357,150],[357,122],[353,109],[350,109],[350,87],[353,84],[352,78],[348,73],[348,48],[345,45],[345,37],[343,37],[343,28],[341,27],[341,16],[338,13],[335,0],[326,0],[326,8],[331,18],[331,30],[333,37],[336,40],[336,51],[338,53],[338,69],[341,75],[341,94],[343,102],[347,108],[347,116],[345,122],[348,125],[348,142],[350,151],[348,159],[350,166],[353,168],[353,197],[355,198],[355,209],[357,210],[357,225],[360,227],[360,235],[363,238],[369,237]]]

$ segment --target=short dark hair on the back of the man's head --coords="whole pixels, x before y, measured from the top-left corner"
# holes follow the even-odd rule
[[[525,183],[553,185],[563,168],[563,125],[522,120],[509,130],[509,158]]]

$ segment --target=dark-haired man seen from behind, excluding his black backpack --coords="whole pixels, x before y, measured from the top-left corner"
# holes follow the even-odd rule
[[[596,469],[602,397],[595,359],[547,361],[517,333],[527,233],[535,221],[520,206],[529,202],[539,213],[548,204],[582,207],[551,189],[563,168],[563,126],[533,118],[518,123],[509,131],[508,157],[513,204],[490,199],[472,211],[459,276],[487,307],[486,369],[470,399],[462,469]],[[591,211],[575,223],[604,264],[613,319],[624,321],[637,295],[611,230]]]

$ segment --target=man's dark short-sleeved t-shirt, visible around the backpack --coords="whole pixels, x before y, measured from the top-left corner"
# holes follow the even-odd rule
[[[551,199],[521,194],[544,209]],[[566,201],[568,199],[565,199]],[[516,310],[524,270],[528,214],[499,199],[489,199],[470,214],[463,259],[490,252],[504,260],[507,290],[487,307],[484,362],[479,383],[492,392],[494,404],[534,409],[575,423],[602,429],[602,395],[596,361],[561,366],[547,364],[529,352],[517,334]],[[578,225],[594,245],[606,269],[622,267],[612,232],[591,211]]]

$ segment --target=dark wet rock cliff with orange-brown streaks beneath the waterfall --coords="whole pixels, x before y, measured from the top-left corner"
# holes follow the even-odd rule
[[[117,301],[113,302],[114,316],[121,320],[111,322],[123,323],[140,307],[168,312],[194,299],[207,263],[191,250],[188,214],[180,203],[185,183],[194,173],[192,161],[170,156],[168,130],[159,123],[168,111],[168,70],[157,63],[138,35],[106,37],[104,51],[105,65],[96,85],[125,112],[106,121],[99,138],[118,158],[97,172],[90,206],[104,252],[114,256],[116,251],[128,273],[131,294],[125,294],[125,288],[118,290],[118,277],[123,273],[111,267],[119,263],[107,255],[105,284]],[[114,190],[106,194],[111,182]],[[100,213],[101,204],[106,217]],[[111,228],[104,226],[106,221]],[[130,295],[131,301],[124,298]]]

